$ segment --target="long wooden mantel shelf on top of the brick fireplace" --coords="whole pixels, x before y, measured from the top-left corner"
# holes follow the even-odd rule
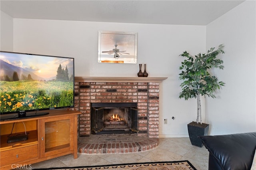
[[[75,82],[126,82],[149,83],[162,82],[168,77],[75,77]]]

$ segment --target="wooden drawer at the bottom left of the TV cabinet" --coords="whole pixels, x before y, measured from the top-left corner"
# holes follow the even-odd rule
[[[0,152],[1,166],[32,158],[38,158],[38,144]]]

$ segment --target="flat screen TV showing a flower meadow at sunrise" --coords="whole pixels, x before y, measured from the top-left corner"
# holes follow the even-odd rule
[[[0,51],[1,121],[67,107],[74,107],[74,58]]]

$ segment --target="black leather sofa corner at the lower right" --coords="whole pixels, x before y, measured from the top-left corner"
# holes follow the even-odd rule
[[[250,170],[256,150],[256,132],[198,138],[209,151],[208,170]]]

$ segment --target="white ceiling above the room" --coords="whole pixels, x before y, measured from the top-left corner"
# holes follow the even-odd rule
[[[244,0],[0,0],[12,18],[205,26]]]

